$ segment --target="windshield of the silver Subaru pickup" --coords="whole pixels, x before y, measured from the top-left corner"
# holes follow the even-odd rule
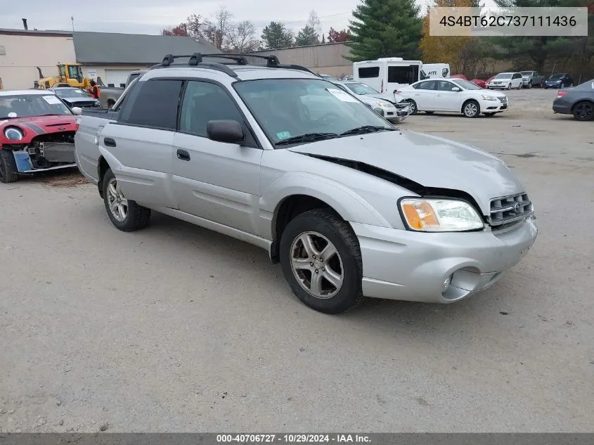
[[[339,137],[361,127],[394,130],[359,99],[322,79],[259,79],[233,86],[274,144],[313,134]]]

